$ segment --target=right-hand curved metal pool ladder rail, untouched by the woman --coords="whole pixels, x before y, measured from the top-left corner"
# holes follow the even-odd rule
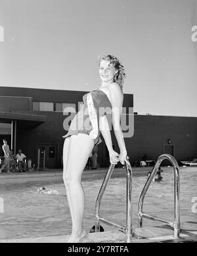
[[[146,213],[142,213],[144,196],[146,195],[146,192],[150,186],[150,183],[154,178],[154,175],[156,174],[156,171],[158,170],[159,166],[161,165],[162,161],[164,161],[164,159],[168,159],[173,165],[173,169],[174,169],[174,221],[173,222],[169,222],[168,220],[164,220],[163,218],[157,218],[157,217],[148,215]],[[139,198],[139,205],[138,205],[138,227],[139,228],[142,227],[142,217],[149,218],[150,220],[158,220],[158,221],[169,224],[174,229],[174,238],[179,238],[179,234],[180,234],[179,165],[177,164],[177,161],[175,160],[175,158],[169,154],[163,154],[163,155],[160,155],[160,157],[158,157],[156,164],[154,165],[154,168],[152,169],[152,172],[148,177],[146,184],[141,192],[141,196]]]

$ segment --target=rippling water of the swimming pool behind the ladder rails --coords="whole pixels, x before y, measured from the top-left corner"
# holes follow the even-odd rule
[[[123,170],[123,173],[125,171]],[[114,169],[116,173],[116,168]],[[146,182],[146,173],[133,175],[133,227],[137,228],[137,204]],[[100,215],[125,225],[126,180],[112,178],[106,188],[100,207]],[[144,199],[144,211],[158,217],[173,220],[173,170],[164,168],[162,182],[152,182]],[[89,230],[94,225],[94,211],[97,194],[104,173],[83,176],[86,194],[84,227]],[[197,213],[192,211],[192,198],[197,197],[197,168],[180,168],[181,222],[197,221]],[[58,195],[37,193],[37,188],[46,186],[58,191]],[[0,196],[4,200],[4,213],[0,213],[0,239],[57,236],[70,234],[72,223],[66,200],[66,192],[61,176],[41,176],[39,178],[1,179]],[[160,222],[144,219],[143,226]],[[104,226],[104,230],[113,227]]]

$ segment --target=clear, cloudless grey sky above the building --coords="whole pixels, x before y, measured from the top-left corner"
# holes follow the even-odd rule
[[[135,112],[197,116],[197,0],[0,0],[0,26],[0,86],[95,90],[112,54]]]

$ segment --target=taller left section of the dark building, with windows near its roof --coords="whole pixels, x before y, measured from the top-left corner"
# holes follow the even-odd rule
[[[7,138],[14,153],[18,149],[37,165],[47,168],[62,167],[62,147],[66,134],[63,128],[63,109],[79,111],[83,95],[87,91],[43,90],[31,88],[0,88],[0,145]],[[133,95],[126,94],[123,105],[133,107]],[[102,144],[102,145],[101,145]],[[106,165],[108,155],[104,143],[99,147],[100,166]],[[40,153],[38,151],[40,149]],[[0,149],[0,156],[3,151]]]

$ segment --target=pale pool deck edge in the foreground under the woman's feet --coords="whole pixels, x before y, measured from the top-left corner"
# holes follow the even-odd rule
[[[131,243],[185,243],[197,242],[197,222],[186,223],[179,238],[173,238],[169,226],[136,228]],[[0,243],[66,243],[69,236],[45,236],[40,238],[20,238],[0,240]],[[126,236],[119,230],[89,233],[81,243],[126,243]]]

